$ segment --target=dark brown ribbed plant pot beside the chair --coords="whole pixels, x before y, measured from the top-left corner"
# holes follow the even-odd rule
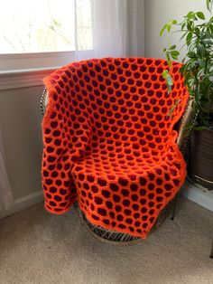
[[[189,152],[190,179],[213,190],[213,130],[194,130],[190,137]]]

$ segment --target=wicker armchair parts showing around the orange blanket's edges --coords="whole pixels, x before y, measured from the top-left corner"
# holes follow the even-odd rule
[[[189,128],[186,128],[186,125],[188,125],[189,122],[193,121],[194,119],[191,103],[192,103],[191,100],[189,100],[184,115],[182,116],[177,126],[177,130],[179,132],[177,138],[177,144],[183,154],[185,153],[186,145],[190,135]],[[42,99],[41,99],[42,115],[45,113],[47,105],[48,105],[48,90],[45,89],[42,93]],[[171,202],[162,209],[162,212],[159,214],[158,219],[153,225],[152,231],[158,228],[171,212],[172,212],[171,219],[173,219],[175,214],[177,197],[178,194],[176,194],[175,197],[171,200]],[[142,240],[141,238],[130,235],[128,233],[107,230],[106,228],[103,228],[100,225],[96,225],[92,222],[89,222],[85,214],[79,209],[79,206],[76,202],[74,203],[74,206],[77,212],[79,213],[81,220],[87,225],[89,232],[92,232],[92,234],[98,240],[105,242],[109,241],[110,243],[116,243],[116,244],[125,244],[130,242],[134,243],[136,241]]]

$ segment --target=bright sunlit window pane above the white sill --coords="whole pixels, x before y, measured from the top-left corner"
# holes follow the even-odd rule
[[[0,0],[0,5],[0,53],[92,48],[90,0]]]

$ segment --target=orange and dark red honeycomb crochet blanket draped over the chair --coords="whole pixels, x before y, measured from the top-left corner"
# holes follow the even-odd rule
[[[75,62],[44,79],[45,207],[65,213],[78,200],[88,220],[145,238],[179,191],[186,166],[174,125],[188,92],[174,62],[171,93],[163,60]]]

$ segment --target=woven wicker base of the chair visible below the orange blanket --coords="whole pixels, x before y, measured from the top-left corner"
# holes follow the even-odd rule
[[[158,229],[162,225],[162,223],[169,217],[169,215],[171,215],[173,202],[174,199],[171,200],[171,202],[167,204],[166,207],[159,214],[159,217],[153,225],[153,229],[150,233]],[[80,220],[86,225],[88,232],[90,232],[97,241],[119,246],[132,245],[140,241],[144,241],[142,238],[134,237],[128,233],[107,230],[101,226],[97,226],[89,222],[85,214],[82,213],[79,209],[77,202],[74,203],[74,208],[77,214],[79,215]]]

